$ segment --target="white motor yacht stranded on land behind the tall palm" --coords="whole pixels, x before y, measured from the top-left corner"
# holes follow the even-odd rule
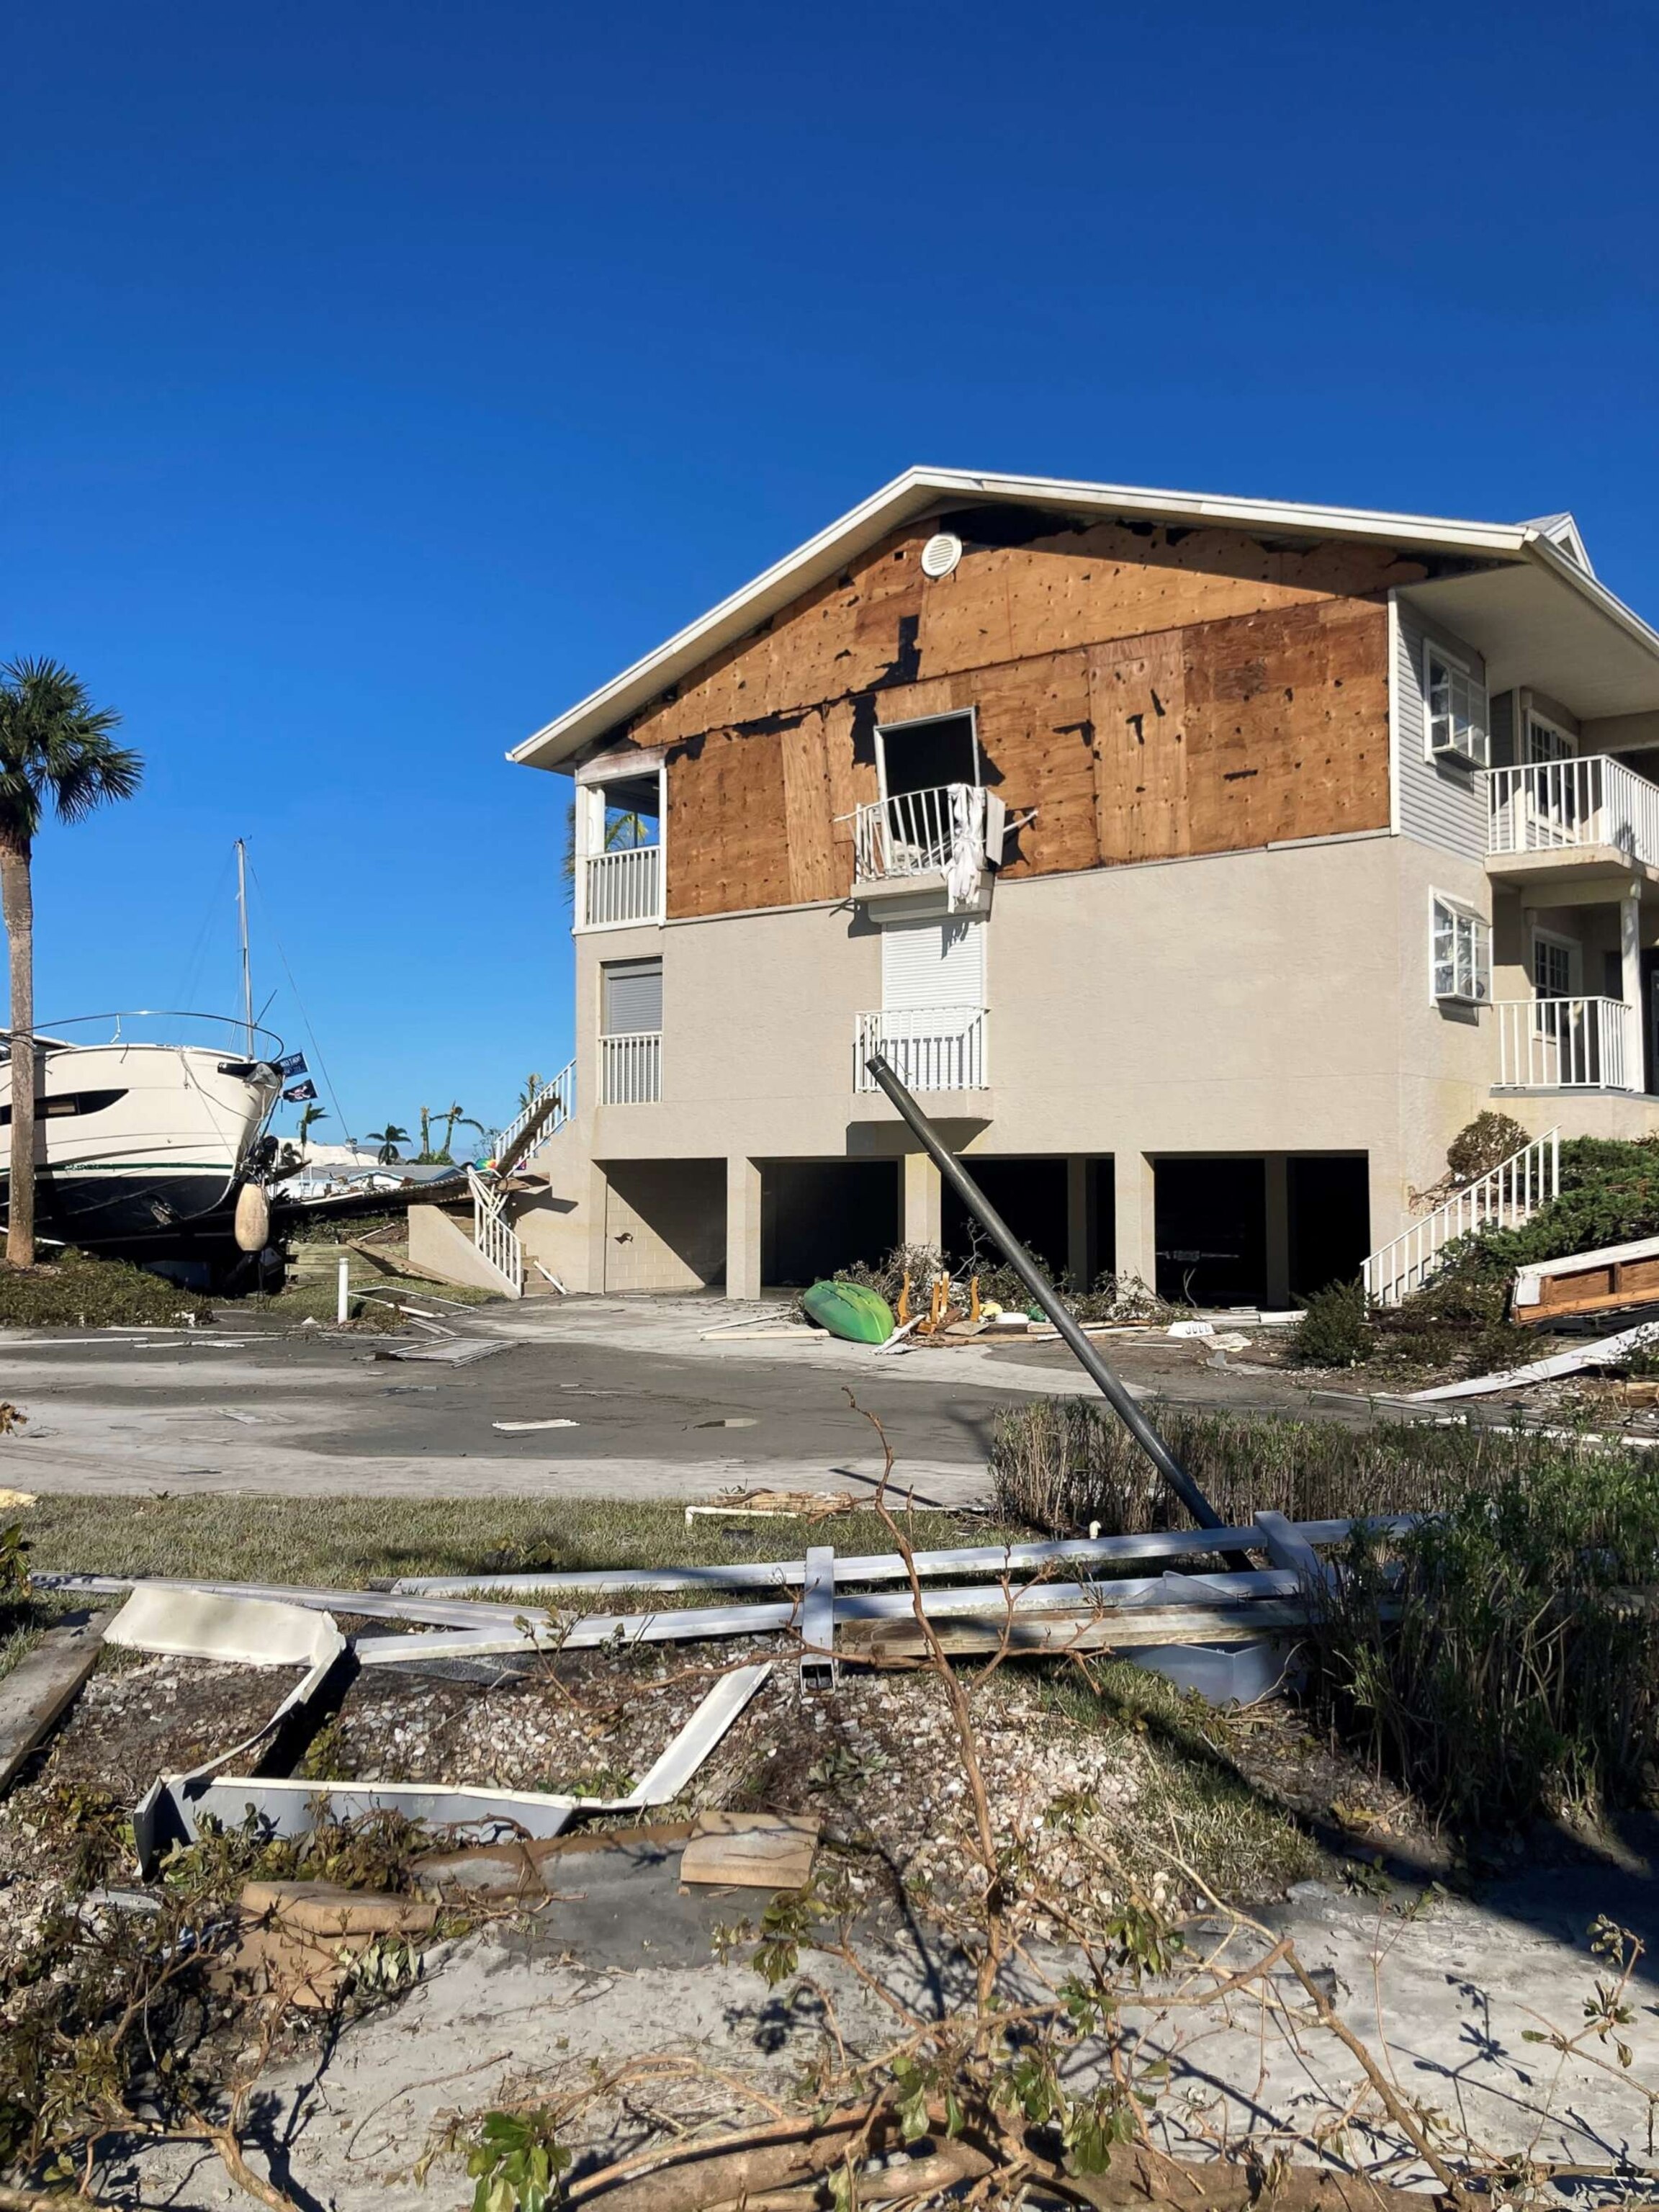
[[[102,1031],[77,1042],[73,1031]],[[155,1035],[150,1035],[155,1031]],[[201,1042],[192,1042],[201,1040]],[[215,1042],[221,1040],[221,1042]],[[11,1055],[0,1062],[0,1206],[9,1199]],[[292,1064],[246,1020],[84,1015],[35,1035],[35,1225],[62,1243],[230,1232],[263,1168],[263,1128]]]

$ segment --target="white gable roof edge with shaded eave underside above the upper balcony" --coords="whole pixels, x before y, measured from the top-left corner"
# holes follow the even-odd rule
[[[529,768],[564,768],[575,754],[593,745],[619,721],[641,712],[664,690],[701,668],[714,653],[745,637],[759,624],[781,613],[803,593],[827,582],[849,560],[878,544],[889,531],[916,522],[940,507],[958,504],[1009,504],[1048,507],[1071,515],[1097,515],[1102,520],[1121,515],[1135,522],[1175,522],[1188,529],[1210,524],[1217,529],[1270,531],[1274,538],[1352,538],[1365,544],[1389,544],[1402,553],[1420,551],[1442,560],[1478,562],[1486,573],[1447,577],[1433,584],[1409,586],[1411,597],[1422,593],[1453,593],[1471,584],[1493,588],[1526,582],[1535,586],[1515,597],[1482,599],[1471,593],[1467,608],[1451,599],[1422,599],[1422,611],[1453,624],[1458,635],[1469,637],[1498,666],[1511,650],[1515,622],[1542,619],[1548,635],[1571,644],[1577,655],[1575,666],[1584,666],[1586,697],[1617,699],[1608,706],[1579,706],[1562,690],[1551,655],[1548,688],[1579,714],[1626,714],[1659,706],[1659,635],[1632,615],[1606,586],[1597,584],[1588,568],[1582,568],[1568,551],[1546,535],[1537,522],[1449,522],[1433,515],[1371,513],[1358,507],[1301,507],[1283,500],[1225,500],[1194,491],[1148,491],[1133,484],[1077,484],[1048,476],[982,476],[969,469],[907,469],[891,484],[883,484],[869,500],[818,531],[794,553],[785,555],[752,584],[734,591],[719,606],[712,606],[697,622],[688,624],[666,644],[657,646],[633,668],[588,692],[577,706],[557,714],[507,759]],[[1557,518],[1548,518],[1555,522]],[[1444,604],[1444,613],[1442,613]],[[1486,626],[1500,644],[1489,650],[1478,630],[1467,628],[1467,619]],[[1608,655],[1608,672],[1597,677],[1597,653]],[[1493,675],[1493,688],[1502,688]],[[1533,681],[1542,681],[1537,664]]]

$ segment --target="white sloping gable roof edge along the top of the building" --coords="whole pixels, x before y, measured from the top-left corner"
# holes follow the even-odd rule
[[[666,644],[624,668],[586,699],[555,714],[507,759],[529,768],[560,768],[619,721],[650,706],[664,690],[701,668],[714,653],[748,635],[792,599],[827,582],[858,553],[889,531],[942,504],[1051,507],[1077,515],[1133,518],[1137,522],[1212,524],[1219,529],[1272,531],[1276,538],[1352,538],[1365,544],[1396,544],[1453,560],[1542,566],[1557,584],[1571,586],[1606,624],[1624,633],[1626,653],[1637,664],[1650,657],[1652,697],[1659,706],[1659,633],[1617,599],[1590,571],[1584,542],[1571,515],[1537,522],[1451,522],[1436,515],[1391,515],[1360,507],[1305,507],[1285,500],[1230,500],[1201,491],[1148,491],[1135,484],[1082,484],[1051,476],[984,476],[971,469],[905,469],[889,484],[841,515],[794,553],[774,562],[752,584],[734,591]],[[1646,672],[1639,668],[1637,675]],[[1646,686],[1639,686],[1646,690]],[[1632,699],[1635,703],[1635,699]]]

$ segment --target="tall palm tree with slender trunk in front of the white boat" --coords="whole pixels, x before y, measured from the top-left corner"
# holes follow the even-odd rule
[[[11,958],[11,1194],[7,1259],[35,1263],[35,887],[33,854],[46,807],[77,823],[131,799],[137,752],[111,741],[115,708],[93,706],[62,661],[18,659],[0,670],[0,909]],[[22,1075],[22,1082],[18,1079]]]

